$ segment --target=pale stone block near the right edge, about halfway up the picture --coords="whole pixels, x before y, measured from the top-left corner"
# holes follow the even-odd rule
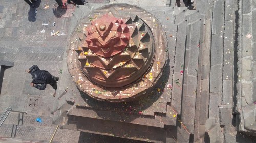
[[[251,81],[252,78],[252,67],[251,67],[251,59],[242,59],[242,80],[243,81]]]

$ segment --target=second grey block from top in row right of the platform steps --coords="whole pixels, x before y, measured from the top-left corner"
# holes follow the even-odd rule
[[[223,62],[223,34],[212,35],[211,66]]]

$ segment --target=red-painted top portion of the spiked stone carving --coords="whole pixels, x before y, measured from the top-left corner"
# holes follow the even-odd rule
[[[108,58],[122,52],[129,43],[129,28],[121,19],[105,14],[91,24],[85,28],[84,44],[95,54]]]

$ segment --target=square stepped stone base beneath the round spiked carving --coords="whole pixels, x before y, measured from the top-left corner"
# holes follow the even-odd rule
[[[197,11],[186,7],[165,7],[164,11],[157,7],[144,8],[132,12],[145,21],[159,20],[166,32],[162,34],[166,34],[169,41],[166,50],[169,59],[158,82],[138,100],[102,102],[79,92],[68,69],[63,69],[54,124],[61,124],[64,129],[140,141],[193,141],[204,23]],[[152,14],[146,11],[149,8]],[[82,9],[76,12],[78,16],[84,13]]]

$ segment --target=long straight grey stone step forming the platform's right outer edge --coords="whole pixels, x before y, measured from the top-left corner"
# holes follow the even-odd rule
[[[186,124],[187,130],[194,134],[201,20],[198,19],[190,25],[191,36],[186,39],[189,45],[186,45],[185,51],[181,120]]]

